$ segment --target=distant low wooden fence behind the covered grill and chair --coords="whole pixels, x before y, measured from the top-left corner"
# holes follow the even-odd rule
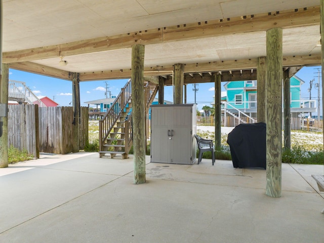
[[[235,127],[240,123],[252,123],[252,120],[247,117],[241,117],[244,122],[239,122],[237,118],[227,116],[226,124],[224,124],[224,116],[221,116],[221,126]],[[257,118],[254,118],[257,121]],[[299,117],[291,118],[291,130],[304,130],[304,131],[320,131],[323,129],[322,120],[306,119]],[[197,116],[197,126],[214,126],[215,120],[213,116],[203,117]],[[282,129],[284,128],[284,119],[282,118]]]

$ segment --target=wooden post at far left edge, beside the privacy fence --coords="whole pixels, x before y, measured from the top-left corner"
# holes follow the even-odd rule
[[[5,106],[5,116],[0,117],[0,168],[8,167],[8,84],[9,64],[2,64],[0,72],[0,104]]]

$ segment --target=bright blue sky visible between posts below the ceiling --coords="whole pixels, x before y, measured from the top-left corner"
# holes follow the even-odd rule
[[[313,87],[311,90],[312,99],[317,99],[317,83],[318,75],[317,68],[320,66],[303,67],[296,75],[302,79],[305,83],[302,85],[301,98],[309,98],[309,81],[314,79]],[[320,70],[319,70],[320,71]],[[321,73],[321,72],[320,72]],[[21,72],[17,70],[10,70],[9,79],[15,81],[25,82],[26,85],[37,96],[48,96],[59,103],[60,106],[71,106],[72,101],[72,83],[71,81],[60,80],[50,78],[42,75],[35,75],[31,73]],[[105,98],[106,82],[111,95],[117,96],[120,89],[124,87],[127,80],[107,80],[107,81],[89,81],[80,82],[80,103],[81,106],[88,106],[84,102]],[[222,91],[225,91],[222,83]],[[194,103],[194,91],[193,85],[187,85],[187,103]],[[321,95],[321,92],[320,92]],[[205,105],[211,106],[214,96],[214,83],[204,83],[198,85],[198,91],[196,93],[196,102],[198,110]],[[109,97],[109,94],[108,94]],[[172,86],[165,87],[165,100],[173,101],[173,88]]]

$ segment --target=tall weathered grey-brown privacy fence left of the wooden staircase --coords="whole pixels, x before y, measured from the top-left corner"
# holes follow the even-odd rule
[[[73,108],[12,105],[8,112],[8,145],[26,149],[34,157],[39,152],[73,152]],[[88,108],[80,110],[79,148],[88,141]]]

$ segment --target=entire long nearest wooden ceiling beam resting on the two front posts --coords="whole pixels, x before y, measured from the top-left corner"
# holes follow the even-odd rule
[[[80,55],[131,48],[134,44],[150,45],[162,42],[215,37],[230,33],[265,31],[273,27],[290,28],[319,24],[319,6],[307,9],[235,17],[205,22],[161,27],[112,37],[101,37],[66,44],[3,53],[4,63],[32,61],[58,56]]]

